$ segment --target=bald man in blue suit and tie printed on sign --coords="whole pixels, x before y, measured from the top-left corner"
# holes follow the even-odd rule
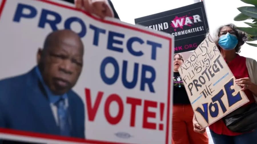
[[[81,74],[83,53],[75,32],[50,33],[38,50],[37,66],[0,81],[0,127],[85,138],[84,104],[71,90]]]

